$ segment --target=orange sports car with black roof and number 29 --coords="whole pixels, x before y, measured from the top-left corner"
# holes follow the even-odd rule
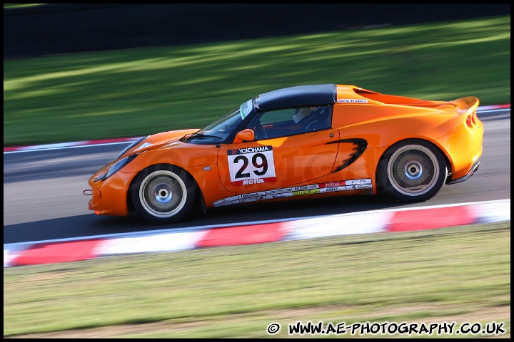
[[[426,201],[478,170],[478,104],[339,84],[273,90],[205,128],[133,142],[89,180],[89,209],[170,224],[195,205],[378,192]]]

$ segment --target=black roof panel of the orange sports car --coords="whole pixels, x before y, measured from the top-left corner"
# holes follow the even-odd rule
[[[331,105],[336,103],[336,84],[296,86],[262,93],[253,98],[257,110],[301,107],[306,105]]]

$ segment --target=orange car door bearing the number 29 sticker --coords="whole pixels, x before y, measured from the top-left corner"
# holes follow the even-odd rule
[[[218,151],[227,190],[238,194],[298,185],[328,175],[338,154],[338,130],[228,144]]]

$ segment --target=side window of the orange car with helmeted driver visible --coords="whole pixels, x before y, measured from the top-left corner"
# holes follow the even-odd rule
[[[273,139],[331,127],[332,106],[285,108],[259,113],[249,123],[255,140]]]

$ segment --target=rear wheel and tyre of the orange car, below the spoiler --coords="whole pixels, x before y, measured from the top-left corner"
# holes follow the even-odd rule
[[[388,148],[378,164],[380,187],[402,202],[424,202],[443,187],[448,168],[438,147],[404,140]]]

